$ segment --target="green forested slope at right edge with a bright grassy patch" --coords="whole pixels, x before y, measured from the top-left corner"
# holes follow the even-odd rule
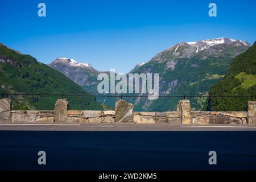
[[[246,52],[238,55],[226,76],[210,88],[210,95],[256,95],[256,42]],[[247,98],[212,98],[213,110],[246,110]],[[256,98],[253,98],[256,100]]]

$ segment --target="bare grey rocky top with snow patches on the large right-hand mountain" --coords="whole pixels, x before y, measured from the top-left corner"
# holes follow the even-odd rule
[[[251,45],[242,40],[229,38],[205,39],[197,42],[181,42],[158,53],[150,60],[160,63],[168,63],[169,68],[173,68],[179,59],[191,59],[197,55],[204,55],[202,59],[209,56],[230,55],[229,50],[232,49],[233,56],[237,53],[246,51]],[[163,55],[168,55],[164,57]],[[147,63],[146,63],[147,64]],[[144,68],[144,66],[143,66]]]

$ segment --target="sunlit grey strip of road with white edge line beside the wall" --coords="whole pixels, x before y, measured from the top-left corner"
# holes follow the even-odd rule
[[[0,123],[1,130],[25,131],[256,131],[242,125],[170,125],[134,123]]]

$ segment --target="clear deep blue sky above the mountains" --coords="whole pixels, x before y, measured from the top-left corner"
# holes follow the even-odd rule
[[[38,16],[38,4],[47,16]],[[217,17],[208,5],[217,5]],[[179,42],[228,37],[253,44],[256,1],[0,0],[0,42],[42,63],[69,57],[127,73]]]

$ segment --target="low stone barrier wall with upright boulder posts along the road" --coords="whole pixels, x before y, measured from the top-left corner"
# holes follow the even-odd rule
[[[256,102],[249,101],[247,111],[191,111],[189,100],[181,100],[177,111],[138,112],[125,100],[115,110],[68,110],[67,100],[57,100],[55,110],[11,110],[11,100],[0,100],[0,122],[70,123],[170,123],[256,125]]]

